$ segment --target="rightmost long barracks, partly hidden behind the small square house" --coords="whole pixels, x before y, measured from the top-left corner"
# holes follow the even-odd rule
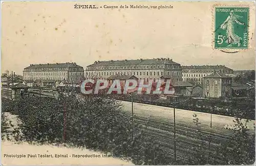
[[[182,81],[188,81],[193,84],[203,84],[203,78],[214,72],[233,77],[233,70],[225,65],[201,65],[201,66],[181,66]]]

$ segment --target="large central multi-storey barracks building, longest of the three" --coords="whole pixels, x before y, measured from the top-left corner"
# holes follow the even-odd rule
[[[169,58],[95,61],[86,68],[86,79],[103,79],[110,76],[135,76],[139,80],[156,81],[169,76],[173,82],[181,81],[181,65]]]

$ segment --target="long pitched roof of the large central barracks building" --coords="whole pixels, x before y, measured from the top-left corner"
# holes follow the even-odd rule
[[[151,64],[179,64],[169,58],[154,58],[154,59],[137,59],[137,60],[110,60],[110,61],[95,61],[92,66],[119,66],[119,65],[151,65]]]

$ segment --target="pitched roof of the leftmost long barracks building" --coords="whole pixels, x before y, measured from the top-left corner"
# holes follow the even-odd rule
[[[75,62],[67,63],[47,63],[47,64],[30,64],[30,66],[25,67],[24,69],[29,68],[65,68],[65,67],[82,67],[77,65]]]

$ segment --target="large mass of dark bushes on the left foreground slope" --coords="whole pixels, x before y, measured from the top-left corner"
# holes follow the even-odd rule
[[[12,102],[11,113],[23,125],[16,140],[33,144],[62,144],[120,155],[135,164],[169,164],[170,158],[158,144],[142,136],[142,127],[122,113],[112,99],[74,94],[58,99],[20,98]],[[7,111],[7,110],[6,110]],[[133,134],[133,139],[132,139]]]

